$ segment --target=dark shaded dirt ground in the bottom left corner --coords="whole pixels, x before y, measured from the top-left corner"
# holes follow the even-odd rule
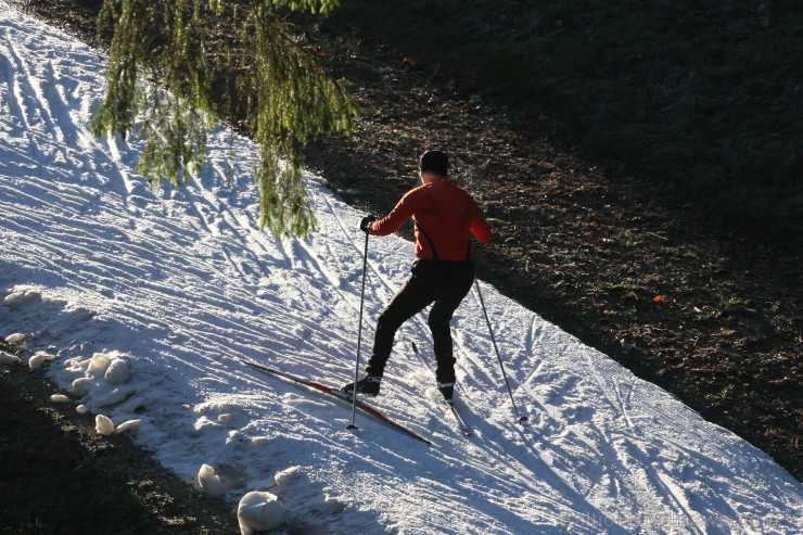
[[[0,340],[0,352],[15,353]],[[102,437],[41,371],[0,367],[0,533],[239,534],[231,504],[202,495],[128,436]]]

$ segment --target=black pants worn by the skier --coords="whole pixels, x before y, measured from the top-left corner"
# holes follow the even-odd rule
[[[373,353],[368,361],[367,373],[382,377],[398,328],[432,304],[428,323],[432,331],[437,361],[435,375],[438,382],[454,382],[455,357],[449,323],[473,282],[474,264],[472,262],[418,260],[412,266],[410,278],[379,317]]]

